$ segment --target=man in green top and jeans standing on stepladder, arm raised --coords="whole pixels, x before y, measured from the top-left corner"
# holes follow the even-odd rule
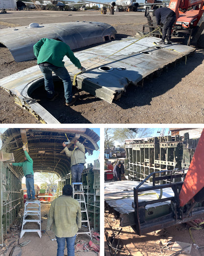
[[[23,146],[24,150],[24,162],[13,162],[10,163],[13,166],[21,166],[23,168],[24,175],[26,177],[26,189],[27,198],[25,200],[35,200],[35,189],[34,189],[34,176],[33,176],[33,160],[26,151],[26,146]],[[31,191],[31,193],[30,193]]]

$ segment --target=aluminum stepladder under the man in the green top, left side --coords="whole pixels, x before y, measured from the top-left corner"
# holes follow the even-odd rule
[[[26,219],[26,217],[34,217],[34,219]],[[37,223],[39,229],[25,229],[26,224]],[[20,238],[25,234],[25,232],[37,232],[39,237],[42,237],[41,234],[41,213],[40,213],[40,201],[26,201],[25,210],[24,210],[24,219],[21,229]]]

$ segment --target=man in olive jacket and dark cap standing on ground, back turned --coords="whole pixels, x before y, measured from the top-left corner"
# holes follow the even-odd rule
[[[62,195],[54,199],[48,215],[46,231],[51,227],[57,240],[57,256],[64,256],[65,242],[67,255],[75,256],[75,239],[81,227],[81,208],[79,202],[72,198],[72,186],[65,185]]]

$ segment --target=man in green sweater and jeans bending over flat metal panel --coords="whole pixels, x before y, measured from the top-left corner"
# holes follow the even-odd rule
[[[45,90],[47,91],[48,99],[53,101],[58,96],[58,93],[54,91],[52,80],[53,71],[60,79],[62,79],[64,84],[66,106],[73,105],[76,101],[76,97],[72,96],[72,81],[64,66],[63,58],[67,56],[82,73],[85,72],[86,69],[81,66],[69,45],[62,42],[59,38],[42,38],[33,46],[33,52],[37,58],[37,64],[44,76]]]

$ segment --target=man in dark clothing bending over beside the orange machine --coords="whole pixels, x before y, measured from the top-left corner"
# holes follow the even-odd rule
[[[163,25],[162,28],[162,39],[159,43],[164,43],[165,38],[167,39],[167,43],[171,44],[171,33],[172,27],[176,21],[176,13],[167,7],[161,7],[153,10],[153,16],[156,18],[156,25]]]

